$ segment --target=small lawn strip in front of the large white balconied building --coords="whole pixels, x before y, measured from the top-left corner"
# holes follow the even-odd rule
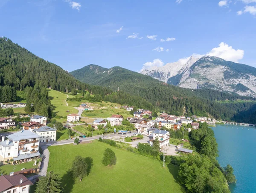
[[[16,164],[16,165],[12,165],[12,164],[5,164],[3,166],[0,166],[0,173],[3,173],[4,175],[9,174],[10,172],[17,172],[20,171],[23,167],[25,167],[26,169],[29,168],[36,168],[37,166],[33,166],[33,164],[35,163],[35,161],[29,161],[23,164]]]

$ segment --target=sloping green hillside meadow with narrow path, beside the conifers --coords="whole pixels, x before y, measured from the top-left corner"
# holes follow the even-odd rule
[[[67,98],[66,94],[58,92],[56,90],[49,89],[49,97],[51,98],[51,103],[54,106],[53,113],[59,116],[67,116],[70,113],[77,113],[78,110],[73,107],[67,106],[65,100]],[[74,97],[69,95],[70,98]],[[66,112],[69,110],[70,112]],[[59,120],[58,120],[59,121]],[[67,121],[67,120],[66,120]],[[62,121],[63,122],[63,121]]]

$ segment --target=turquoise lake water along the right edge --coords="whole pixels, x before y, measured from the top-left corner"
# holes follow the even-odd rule
[[[230,164],[234,169],[237,182],[230,185],[231,192],[256,193],[256,128],[216,125],[212,130],[218,143],[219,164]]]

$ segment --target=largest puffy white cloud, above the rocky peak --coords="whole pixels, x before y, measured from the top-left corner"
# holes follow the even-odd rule
[[[227,43],[221,42],[217,48],[213,48],[206,55],[216,56],[232,62],[238,62],[238,60],[244,58],[244,50],[233,49],[233,47],[229,46]]]

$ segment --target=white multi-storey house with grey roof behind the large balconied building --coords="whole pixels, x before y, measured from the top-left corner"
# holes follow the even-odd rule
[[[43,126],[34,130],[34,133],[40,135],[40,143],[56,141],[56,129],[52,127]]]

